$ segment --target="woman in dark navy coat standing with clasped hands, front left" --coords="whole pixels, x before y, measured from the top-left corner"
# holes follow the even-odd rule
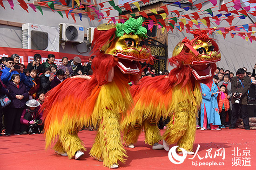
[[[28,92],[26,85],[20,81],[19,74],[12,75],[7,89],[9,90],[8,97],[12,102],[7,106],[7,113],[4,116],[6,136],[11,135],[12,131],[14,131],[14,135],[20,135],[20,117],[26,106]]]

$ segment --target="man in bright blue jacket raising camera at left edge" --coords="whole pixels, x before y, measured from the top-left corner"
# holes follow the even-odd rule
[[[19,65],[16,65],[19,66]],[[24,67],[15,68],[14,61],[12,58],[6,59],[6,67],[2,70],[1,80],[5,85],[8,85],[9,80],[13,74],[19,74],[20,80],[23,82],[25,79],[25,74],[23,72]],[[18,72],[19,71],[19,72]]]

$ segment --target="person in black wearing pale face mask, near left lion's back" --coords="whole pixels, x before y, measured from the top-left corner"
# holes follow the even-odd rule
[[[54,75],[51,75],[50,68],[45,68],[43,75],[40,77],[40,90],[47,93],[51,88],[51,81],[53,81]]]

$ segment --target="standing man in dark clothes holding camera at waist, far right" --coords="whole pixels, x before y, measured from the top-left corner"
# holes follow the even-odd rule
[[[245,71],[240,68],[236,72],[236,77],[231,80],[231,90],[233,96],[231,103],[233,104],[230,127],[229,129],[235,129],[236,121],[238,119],[239,108],[241,109],[241,118],[243,119],[244,129],[250,130],[249,128],[249,117],[247,113],[247,92],[250,88],[250,78],[244,75]]]

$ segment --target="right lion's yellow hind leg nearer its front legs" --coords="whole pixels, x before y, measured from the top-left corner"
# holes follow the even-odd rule
[[[153,145],[158,143],[162,137],[160,135],[160,130],[157,127],[157,122],[155,119],[144,121],[144,133],[145,133],[145,143]]]

